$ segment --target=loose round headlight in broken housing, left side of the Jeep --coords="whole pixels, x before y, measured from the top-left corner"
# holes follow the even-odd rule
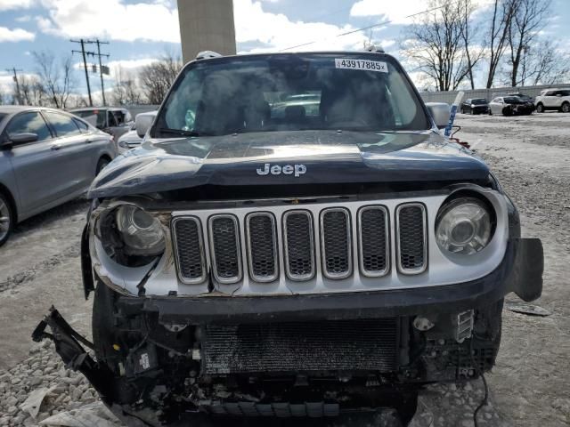
[[[102,214],[97,229],[105,252],[122,265],[144,265],[165,250],[162,224],[136,205],[110,209]]]

